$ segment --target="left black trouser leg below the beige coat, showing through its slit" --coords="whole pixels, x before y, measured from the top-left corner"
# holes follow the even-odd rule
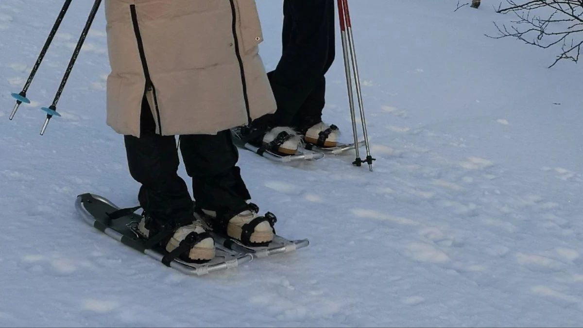
[[[188,218],[192,198],[187,184],[178,176],[178,152],[173,136],[156,134],[147,101],[142,101],[141,135],[124,136],[131,176],[142,184],[138,200],[142,208],[159,222]]]

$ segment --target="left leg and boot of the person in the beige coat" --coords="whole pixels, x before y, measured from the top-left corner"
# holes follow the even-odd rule
[[[210,260],[215,257],[213,239],[198,222],[194,222],[192,198],[184,180],[178,176],[178,151],[173,136],[154,131],[152,111],[142,101],[141,135],[125,135],[129,172],[142,184],[138,200],[144,217],[139,231],[146,238],[160,239],[167,252],[177,249],[188,235],[198,235],[194,245],[182,246],[177,256],[185,261]]]

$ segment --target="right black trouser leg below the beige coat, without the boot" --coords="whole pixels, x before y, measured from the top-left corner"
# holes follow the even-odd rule
[[[194,199],[205,210],[243,210],[251,199],[236,166],[239,155],[231,138],[230,130],[216,135],[180,137],[180,151],[192,177]]]

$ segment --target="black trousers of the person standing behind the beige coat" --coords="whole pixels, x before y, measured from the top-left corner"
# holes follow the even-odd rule
[[[283,2],[282,57],[268,73],[278,109],[261,120],[298,128],[322,120],[324,75],[335,57],[334,5],[334,0]]]

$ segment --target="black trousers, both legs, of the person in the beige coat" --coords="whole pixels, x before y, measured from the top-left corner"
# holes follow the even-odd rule
[[[124,136],[129,172],[142,184],[138,200],[154,219],[192,221],[192,198],[178,176],[178,151],[174,136],[155,132],[152,111],[142,100],[141,135]],[[216,135],[181,135],[180,152],[192,177],[196,204],[217,212],[243,209],[251,196],[236,166],[238,151],[229,130]]]

